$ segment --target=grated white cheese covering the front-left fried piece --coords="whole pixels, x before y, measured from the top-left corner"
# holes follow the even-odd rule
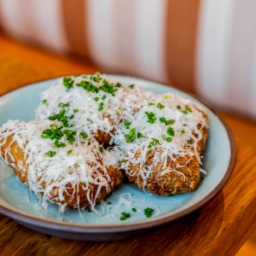
[[[67,183],[71,184],[73,191],[79,183],[84,183],[84,190],[90,190],[90,185],[95,184],[98,188],[105,187],[110,191],[109,184],[112,182],[108,175],[108,166],[117,167],[113,155],[108,150],[101,152],[101,145],[96,140],[90,139],[88,145],[89,140],[80,136],[76,137],[73,144],[67,143],[62,137],[60,142],[66,143],[66,147],[56,148],[55,140],[41,137],[42,132],[52,124],[54,122],[49,120],[29,123],[9,120],[0,128],[0,147],[6,143],[7,137],[13,136],[12,143],[18,143],[24,152],[26,166],[18,161],[16,167],[21,171],[27,170],[27,186],[36,195],[43,195],[43,203],[52,197],[50,194],[54,188],[58,188],[59,192],[54,201],[64,201]],[[49,156],[49,152],[55,154]],[[9,149],[5,154],[9,154],[11,160],[15,161]],[[7,162],[6,155],[1,155],[1,158]],[[88,201],[92,206],[95,205],[97,195],[96,193],[90,198],[88,193]]]

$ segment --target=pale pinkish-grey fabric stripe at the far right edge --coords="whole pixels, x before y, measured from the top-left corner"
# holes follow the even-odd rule
[[[230,47],[230,70],[228,101],[229,108],[241,113],[252,114],[253,108],[253,76],[256,73],[255,42],[256,42],[256,2],[254,0],[236,1]],[[255,96],[255,94],[254,94]]]

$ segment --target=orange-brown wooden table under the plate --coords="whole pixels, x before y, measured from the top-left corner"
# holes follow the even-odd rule
[[[91,63],[0,37],[0,95],[22,84],[70,73]],[[50,65],[49,65],[50,63]],[[166,227],[126,241],[69,241],[29,230],[0,214],[1,255],[235,255],[256,228],[256,154],[239,132],[236,168],[218,195]]]

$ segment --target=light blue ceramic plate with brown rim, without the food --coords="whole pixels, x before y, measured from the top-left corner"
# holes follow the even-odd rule
[[[114,214],[106,212],[103,216],[87,210],[66,209],[59,213],[55,204],[48,204],[48,212],[44,212],[38,198],[29,193],[28,189],[15,177],[9,166],[0,166],[0,212],[15,219],[20,224],[40,232],[75,240],[107,241],[137,236],[143,232],[169,223],[195,211],[209,201],[224,186],[230,177],[236,163],[236,143],[230,128],[212,108],[201,102],[195,96],[177,90],[173,87],[143,79],[108,75],[120,83],[137,84],[143,90],[153,90],[155,93],[168,91],[177,92],[199,102],[209,117],[209,134],[207,150],[203,157],[202,168],[207,171],[198,189],[186,194],[173,196],[149,195],[148,191],[138,189],[129,183],[122,183],[105,201],[115,207],[122,196],[138,206],[137,212],[132,212],[127,204]],[[0,97],[0,125],[8,119],[29,121],[34,118],[34,109],[40,102],[39,94],[55,84],[57,79],[50,79],[36,84],[30,84]],[[146,218],[143,208],[154,208],[151,218]],[[141,209],[140,209],[141,208]],[[102,212],[100,205],[97,206]],[[125,221],[119,219],[121,212],[130,212],[131,218]]]

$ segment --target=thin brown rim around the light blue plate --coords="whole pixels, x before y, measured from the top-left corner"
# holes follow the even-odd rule
[[[190,92],[189,90],[179,88],[175,85],[162,84],[160,82],[153,81],[153,80],[140,79],[140,78],[136,78],[133,76],[125,76],[125,75],[119,75],[119,74],[114,74],[114,73],[102,73],[102,75],[116,76],[116,77],[125,78],[125,79],[136,79],[136,80],[141,80],[142,82],[150,82],[150,83],[164,85],[166,87],[180,90],[180,91],[186,93],[187,95],[192,96],[198,102],[200,102],[202,105],[209,108],[212,111],[212,113],[214,114],[214,116],[219,119],[219,121],[222,123],[222,125],[224,125],[224,129],[227,132],[227,135],[228,135],[229,141],[230,141],[230,162],[229,162],[229,166],[224,174],[224,177],[222,178],[220,183],[218,183],[217,187],[215,189],[213,189],[209,195],[204,197],[201,201],[198,201],[197,203],[195,203],[193,206],[183,210],[182,212],[177,212],[177,213],[173,214],[172,216],[166,216],[166,217],[159,218],[159,219],[152,218],[152,220],[148,220],[143,223],[140,223],[140,221],[134,222],[134,223],[127,223],[127,224],[67,223],[67,222],[61,222],[58,220],[53,221],[50,218],[49,219],[40,218],[40,217],[37,217],[34,214],[28,213],[28,212],[26,212],[26,214],[24,214],[22,211],[20,211],[20,209],[16,209],[17,211],[13,211],[13,210],[11,210],[7,207],[3,207],[1,205],[0,205],[0,213],[2,213],[3,215],[5,215],[9,218],[13,218],[18,222],[20,221],[23,224],[28,224],[28,225],[32,224],[32,225],[36,225],[41,228],[48,228],[48,229],[49,229],[48,225],[50,225],[51,230],[62,230],[62,231],[66,230],[66,231],[73,232],[73,233],[87,234],[87,233],[102,232],[104,234],[108,234],[108,233],[113,233],[113,232],[144,230],[144,229],[154,228],[156,226],[160,226],[163,224],[171,223],[172,221],[177,220],[178,218],[183,218],[185,215],[188,215],[189,213],[194,212],[195,210],[197,210],[197,209],[201,208],[203,205],[205,205],[207,203],[207,201],[210,201],[215,195],[217,195],[218,192],[228,182],[228,180],[230,179],[230,176],[236,166],[236,157],[237,157],[236,139],[234,137],[233,132],[230,129],[230,126],[227,124],[227,122],[224,120],[224,118],[221,116],[221,114],[219,114],[218,111],[216,111],[214,108],[212,108],[212,106],[209,103],[205,102],[204,100],[201,99],[200,96],[196,96],[194,93]],[[73,76],[73,74],[65,75],[65,76]],[[37,84],[48,82],[50,80],[61,79],[62,77],[64,77],[64,76],[57,76],[57,77],[53,77],[51,79],[40,79],[40,80],[32,82],[32,83],[23,84],[19,88],[9,90],[8,92],[0,95],[0,100],[3,96],[12,94],[17,90],[23,90],[26,87],[35,86]]]

